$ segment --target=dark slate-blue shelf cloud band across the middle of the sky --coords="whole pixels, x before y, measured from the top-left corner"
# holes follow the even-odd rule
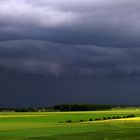
[[[110,48],[23,40],[0,43],[0,67],[53,76],[134,76],[140,48]]]

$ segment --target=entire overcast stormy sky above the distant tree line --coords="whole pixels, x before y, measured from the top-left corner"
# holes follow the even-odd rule
[[[0,106],[138,104],[139,7],[138,0],[0,0]]]

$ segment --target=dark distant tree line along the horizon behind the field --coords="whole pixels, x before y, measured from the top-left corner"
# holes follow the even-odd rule
[[[55,112],[55,111],[102,111],[112,108],[128,108],[140,105],[98,105],[98,104],[60,104],[51,107],[0,108],[0,112]]]

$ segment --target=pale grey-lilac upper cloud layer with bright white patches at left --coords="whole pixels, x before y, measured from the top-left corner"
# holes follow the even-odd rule
[[[102,46],[138,46],[139,6],[138,0],[1,0],[0,39],[13,39],[14,35]],[[3,37],[3,32],[7,36]]]

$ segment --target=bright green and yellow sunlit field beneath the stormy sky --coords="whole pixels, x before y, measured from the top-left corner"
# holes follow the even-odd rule
[[[135,118],[88,121],[90,118]],[[72,120],[71,123],[66,123]],[[79,120],[85,120],[79,122]],[[0,140],[140,140],[140,109],[91,112],[1,112]]]

